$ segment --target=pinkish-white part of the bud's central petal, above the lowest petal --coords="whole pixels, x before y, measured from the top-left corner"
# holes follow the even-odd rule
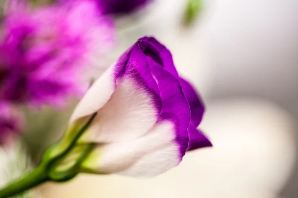
[[[118,78],[115,92],[97,112],[80,142],[112,143],[144,135],[159,116],[155,100],[128,76]]]

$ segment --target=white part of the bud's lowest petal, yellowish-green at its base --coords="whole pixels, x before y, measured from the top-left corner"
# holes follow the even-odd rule
[[[179,146],[174,139],[174,124],[160,122],[139,139],[98,146],[93,151],[97,154],[97,160],[94,161],[91,154],[92,157],[87,158],[82,166],[89,169],[96,167],[95,172],[99,173],[155,176],[181,161]]]

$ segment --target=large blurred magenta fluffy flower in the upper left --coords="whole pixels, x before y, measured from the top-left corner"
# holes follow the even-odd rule
[[[111,21],[81,0],[30,8],[9,0],[0,36],[0,99],[61,105],[88,87],[91,59],[109,49]]]

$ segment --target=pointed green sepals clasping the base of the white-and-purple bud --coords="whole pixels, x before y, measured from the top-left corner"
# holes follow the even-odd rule
[[[42,162],[47,164],[47,172],[51,181],[68,181],[79,173],[80,164],[91,152],[94,144],[82,145],[77,141],[88,129],[96,114],[74,122],[66,130],[62,140],[45,151]]]

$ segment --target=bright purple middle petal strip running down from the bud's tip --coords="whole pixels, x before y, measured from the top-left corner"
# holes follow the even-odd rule
[[[170,120],[175,125],[176,143],[180,148],[181,159],[188,145],[187,127],[190,122],[190,109],[180,83],[170,72],[161,67],[156,59],[156,50],[151,43],[141,41],[140,48],[147,56],[151,72],[160,92],[162,109],[158,121]],[[157,122],[158,122],[157,121]]]

